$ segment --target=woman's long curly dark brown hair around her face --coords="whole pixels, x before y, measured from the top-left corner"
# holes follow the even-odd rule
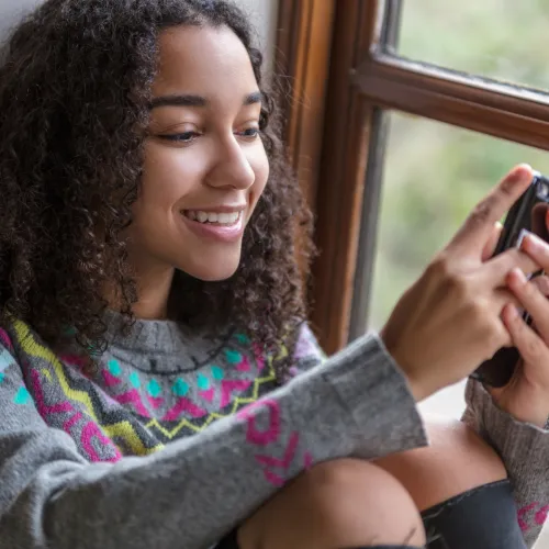
[[[122,229],[139,192],[158,35],[176,25],[226,25],[261,85],[262,57],[244,13],[221,0],[46,0],[4,45],[0,67],[0,323],[18,317],[55,346],[68,326],[107,347],[107,283],[133,322],[136,284]],[[265,101],[270,178],[229,280],[178,271],[170,316],[245,329],[274,349],[305,317],[296,261],[312,253],[311,216]],[[274,123],[273,123],[274,121]],[[301,262],[301,259],[300,259]]]

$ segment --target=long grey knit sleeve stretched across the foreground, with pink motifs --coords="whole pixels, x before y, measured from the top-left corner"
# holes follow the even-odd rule
[[[314,463],[426,444],[403,376],[363,337],[235,416],[147,457],[89,463],[0,362],[1,549],[202,549]]]

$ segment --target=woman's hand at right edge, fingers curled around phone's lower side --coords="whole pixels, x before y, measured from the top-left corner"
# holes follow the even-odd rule
[[[533,236],[523,249],[549,272],[549,250],[542,240]],[[534,326],[524,322],[514,305],[505,306],[503,320],[522,360],[509,383],[490,392],[497,405],[517,419],[545,427],[549,418],[549,301],[546,298],[549,279],[542,276],[528,281],[520,270],[513,270],[507,284],[520,307],[530,314]]]

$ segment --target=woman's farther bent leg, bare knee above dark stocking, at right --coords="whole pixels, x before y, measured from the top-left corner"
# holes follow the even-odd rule
[[[422,511],[429,549],[526,548],[506,471],[497,455],[460,422],[430,421],[429,448],[377,463]]]

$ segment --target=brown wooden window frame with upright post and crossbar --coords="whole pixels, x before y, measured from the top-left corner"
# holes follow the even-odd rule
[[[295,85],[287,105],[287,139],[316,215],[321,250],[313,266],[312,324],[325,350],[335,352],[365,325],[384,111],[549,150],[549,96],[396,56],[402,0],[280,3],[279,48],[291,60],[282,72]],[[327,4],[330,16],[307,27],[305,18]],[[315,54],[318,43],[321,55]],[[317,91],[312,112],[298,100],[306,90]]]

